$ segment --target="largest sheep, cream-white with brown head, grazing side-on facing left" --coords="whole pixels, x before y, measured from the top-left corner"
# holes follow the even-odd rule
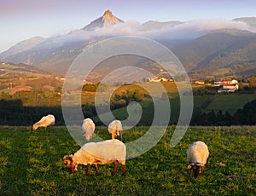
[[[94,164],[96,167],[96,174],[99,175],[97,164],[111,164],[114,163],[112,176],[116,174],[120,164],[123,175],[125,175],[125,156],[126,147],[122,141],[117,139],[89,142],[84,144],[74,154],[65,155],[63,162],[70,171],[77,171],[79,164],[87,165],[86,175],[89,175],[90,165]]]

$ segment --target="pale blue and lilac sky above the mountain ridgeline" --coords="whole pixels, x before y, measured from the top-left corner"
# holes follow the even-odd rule
[[[1,0],[0,53],[31,37],[78,30],[110,9],[121,20],[232,20],[256,16],[254,0]]]

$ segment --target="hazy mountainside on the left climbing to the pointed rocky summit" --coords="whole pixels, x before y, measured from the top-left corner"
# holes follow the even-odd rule
[[[15,64],[21,62],[37,66],[54,74],[65,75],[68,67],[84,49],[103,39],[101,36],[93,37],[91,31],[102,27],[111,28],[117,23],[123,23],[123,20],[119,20],[110,10],[107,10],[102,17],[92,21],[81,30],[69,32],[66,35],[41,39],[40,42],[31,44],[30,47],[24,47],[18,52],[18,46],[25,45],[24,43],[34,39],[20,42],[13,47],[17,52],[12,52],[12,49],[3,52],[0,54],[0,61]]]

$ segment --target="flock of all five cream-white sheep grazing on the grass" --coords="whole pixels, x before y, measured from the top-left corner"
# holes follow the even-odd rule
[[[54,124],[55,117],[49,114],[33,124],[32,128],[33,130],[37,130],[38,127],[44,127],[46,129],[48,126]],[[89,141],[95,131],[94,122],[90,118],[85,118],[82,124],[82,130],[84,131],[85,139]],[[89,142],[84,144],[76,153],[65,155],[63,162],[67,169],[77,171],[79,164],[84,164],[87,166],[86,174],[89,175],[90,166],[94,164],[96,173],[99,174],[97,164],[114,163],[112,175],[116,174],[119,164],[123,170],[123,175],[125,175],[126,147],[122,142],[123,128],[121,122],[119,120],[113,120],[108,124],[108,132],[112,137],[111,140]],[[121,141],[115,139],[118,135],[120,135]],[[209,150],[207,145],[203,141],[195,141],[187,149],[189,176],[192,176],[193,172],[195,178],[201,176],[205,169],[205,164],[207,164],[208,157]]]

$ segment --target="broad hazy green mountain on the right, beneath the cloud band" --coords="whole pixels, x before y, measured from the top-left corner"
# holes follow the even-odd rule
[[[241,77],[256,71],[256,34],[218,30],[173,49],[192,78]]]

